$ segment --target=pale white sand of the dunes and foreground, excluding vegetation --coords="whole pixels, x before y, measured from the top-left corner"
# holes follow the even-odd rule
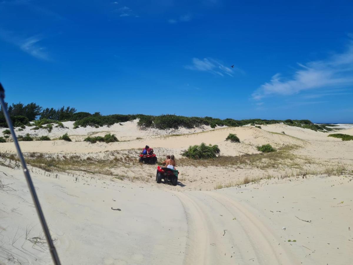
[[[109,129],[130,141],[20,145],[25,152],[99,156],[149,144],[159,157],[174,153],[178,159],[183,149],[201,142],[217,144],[222,155],[229,156],[256,154],[256,146],[265,143],[275,148],[296,145],[293,154],[312,161],[307,170],[344,166],[346,171],[340,176],[276,177],[213,190],[216,184],[245,176],[280,177],[297,169],[288,164],[280,169],[202,167],[195,162],[178,167],[183,185],[173,187],[155,183],[153,165],[118,169],[130,177],[145,173],[142,182],[30,167],[62,264],[353,264],[353,141],[281,124],[262,130],[203,128],[198,129],[206,130],[202,133],[172,137],[139,130],[136,122]],[[68,129],[61,130],[53,129],[53,136]],[[102,131],[79,128],[73,133],[82,139],[104,135]],[[224,141],[229,133],[236,133],[241,143]],[[0,148],[14,152],[13,143]],[[0,166],[0,180],[0,264],[50,264],[46,244],[30,241],[43,235],[22,171]]]

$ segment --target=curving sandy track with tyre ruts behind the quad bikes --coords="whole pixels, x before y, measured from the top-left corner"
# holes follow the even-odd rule
[[[297,264],[272,229],[239,202],[217,192],[175,195],[188,223],[184,264]]]

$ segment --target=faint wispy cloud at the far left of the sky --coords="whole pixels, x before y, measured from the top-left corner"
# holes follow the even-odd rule
[[[22,38],[14,35],[10,31],[0,29],[0,39],[16,45],[23,52],[28,53],[35,58],[46,61],[50,60],[47,49],[40,45],[40,41],[43,39],[42,37],[35,35],[28,38]]]

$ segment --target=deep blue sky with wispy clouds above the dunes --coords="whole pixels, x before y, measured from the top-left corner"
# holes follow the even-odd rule
[[[353,2],[244,2],[0,0],[6,100],[353,123]]]

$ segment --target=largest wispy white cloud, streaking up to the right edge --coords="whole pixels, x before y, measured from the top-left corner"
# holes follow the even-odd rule
[[[345,88],[353,86],[353,41],[345,52],[334,54],[326,60],[298,64],[292,78],[282,78],[276,73],[270,82],[263,84],[252,98],[260,100],[272,95],[293,95],[310,89]]]

